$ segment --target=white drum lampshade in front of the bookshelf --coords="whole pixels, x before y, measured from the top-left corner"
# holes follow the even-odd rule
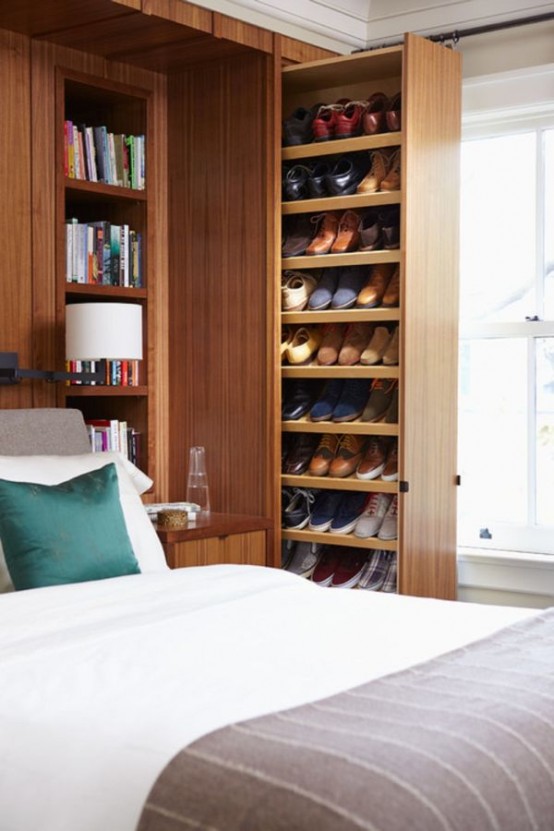
[[[68,361],[142,360],[142,306],[71,303],[65,307]]]

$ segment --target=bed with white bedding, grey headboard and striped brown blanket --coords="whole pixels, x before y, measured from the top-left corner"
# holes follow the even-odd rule
[[[1,831],[554,829],[551,611],[171,571],[108,459],[76,411],[0,412],[8,491],[116,467],[140,566],[0,563]]]

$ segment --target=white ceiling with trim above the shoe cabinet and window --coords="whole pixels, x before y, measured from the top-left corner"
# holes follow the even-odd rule
[[[348,53],[405,32],[456,29],[554,13],[552,0],[196,0],[263,28]]]

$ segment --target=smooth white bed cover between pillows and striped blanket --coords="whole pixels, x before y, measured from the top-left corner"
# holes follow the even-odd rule
[[[532,610],[208,566],[0,598],[0,831],[133,831],[184,745]]]

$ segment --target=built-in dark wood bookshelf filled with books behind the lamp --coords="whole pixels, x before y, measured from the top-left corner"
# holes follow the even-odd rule
[[[103,362],[103,383],[60,392],[81,410],[96,451],[119,449],[152,470],[154,429],[148,389],[149,95],[105,78],[58,70],[57,313],[63,349],[65,307],[133,302],[143,309],[144,360]],[[74,370],[95,371],[89,362]],[[75,364],[75,365],[73,365]]]

